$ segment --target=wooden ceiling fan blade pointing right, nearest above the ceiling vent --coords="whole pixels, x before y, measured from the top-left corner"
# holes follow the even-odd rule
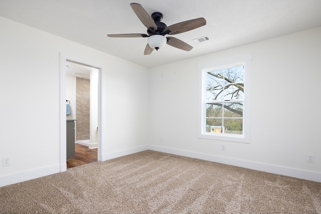
[[[180,34],[180,33],[184,33],[184,32],[202,27],[204,25],[206,25],[206,20],[204,18],[198,18],[198,19],[189,20],[189,21],[171,25],[165,29],[165,33],[171,34],[171,35]]]

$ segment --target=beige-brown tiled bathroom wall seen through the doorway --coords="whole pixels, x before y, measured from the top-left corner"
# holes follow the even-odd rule
[[[76,78],[76,140],[90,139],[90,80]]]

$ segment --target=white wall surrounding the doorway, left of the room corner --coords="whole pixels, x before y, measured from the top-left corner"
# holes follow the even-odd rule
[[[2,17],[0,26],[0,158],[11,157],[0,186],[61,170],[60,53],[102,68],[103,159],[147,147],[148,69]]]

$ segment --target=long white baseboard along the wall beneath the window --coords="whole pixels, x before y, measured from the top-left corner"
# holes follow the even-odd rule
[[[153,151],[166,152],[170,154],[202,159],[202,160],[208,160],[212,162],[224,163],[228,165],[234,165],[234,166],[254,169],[258,171],[296,177],[296,178],[305,179],[305,180],[321,182],[321,173],[315,172],[315,171],[289,168],[284,166],[271,165],[266,163],[247,161],[247,160],[241,160],[241,159],[235,159],[235,158],[229,158],[229,157],[222,157],[218,155],[198,153],[198,152],[186,151],[181,149],[173,149],[173,148],[155,146],[155,145],[149,145],[148,149]]]

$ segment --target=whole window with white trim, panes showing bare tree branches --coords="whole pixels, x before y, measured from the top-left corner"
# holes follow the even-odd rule
[[[200,69],[199,137],[249,142],[250,60]]]

